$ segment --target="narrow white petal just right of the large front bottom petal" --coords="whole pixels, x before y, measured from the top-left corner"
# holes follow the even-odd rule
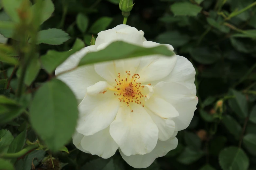
[[[158,115],[154,114],[150,110],[146,109],[151,119],[155,122],[158,127],[158,139],[165,141],[172,137],[175,130],[175,123],[171,119],[162,119]]]

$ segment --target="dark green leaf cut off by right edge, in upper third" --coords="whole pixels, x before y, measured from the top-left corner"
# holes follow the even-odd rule
[[[230,38],[231,44],[237,51],[250,53],[255,51],[256,41],[250,38],[244,37],[232,37]]]

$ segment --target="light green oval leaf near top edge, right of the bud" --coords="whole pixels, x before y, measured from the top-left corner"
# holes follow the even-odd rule
[[[189,2],[176,2],[171,6],[174,15],[196,16],[202,7],[191,4]]]

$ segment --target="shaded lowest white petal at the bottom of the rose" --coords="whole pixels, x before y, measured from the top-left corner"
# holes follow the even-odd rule
[[[154,160],[158,157],[166,155],[170,150],[173,150],[178,145],[178,139],[176,137],[168,139],[166,141],[157,141],[156,147],[152,152],[145,155],[131,155],[126,156],[120,149],[119,152],[122,158],[134,168],[146,168],[150,166]]]

